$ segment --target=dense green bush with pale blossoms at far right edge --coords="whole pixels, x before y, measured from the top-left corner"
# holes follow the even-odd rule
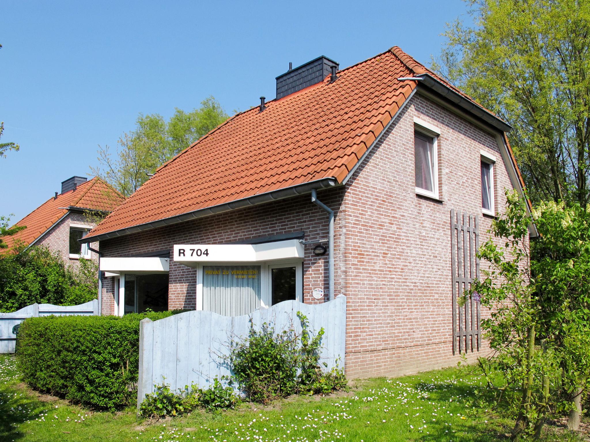
[[[590,213],[578,203],[540,203],[532,242],[540,326],[560,355],[568,427],[578,430],[590,377]]]

